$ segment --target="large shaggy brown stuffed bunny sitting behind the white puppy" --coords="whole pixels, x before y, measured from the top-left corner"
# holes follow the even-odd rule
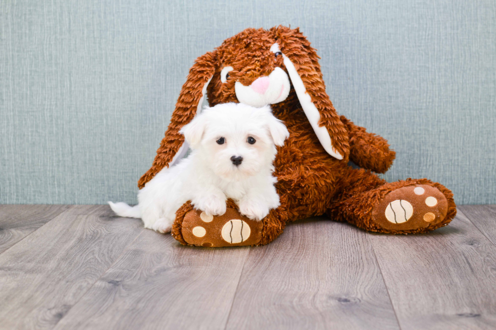
[[[386,233],[427,232],[453,219],[456,205],[443,185],[428,179],[388,183],[373,173],[386,172],[395,153],[384,138],[338,116],[325,92],[318,59],[299,29],[279,26],[246,29],[196,60],[153,165],[139,180],[140,188],[185,155],[188,146],[179,130],[201,111],[205,94],[211,106],[270,104],[290,137],[275,160],[279,208],[253,221],[231,200],[222,216],[186,203],[176,213],[172,230],[179,242],[262,245],[277,238],[286,222],[323,214]],[[350,167],[349,161],[363,169]],[[198,226],[205,230],[193,230]]]

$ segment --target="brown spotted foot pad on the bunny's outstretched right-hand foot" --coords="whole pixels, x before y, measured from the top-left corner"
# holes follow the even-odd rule
[[[374,208],[374,224],[387,230],[415,230],[441,222],[448,210],[446,197],[428,184],[398,188]]]

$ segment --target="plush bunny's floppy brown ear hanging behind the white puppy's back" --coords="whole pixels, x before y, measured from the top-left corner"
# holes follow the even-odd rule
[[[160,143],[160,148],[157,150],[157,155],[151,168],[138,181],[140,189],[163,167],[176,164],[188,151],[188,143],[185,142],[184,135],[179,131],[194,118],[196,113],[200,113],[206,87],[215,72],[216,61],[216,52],[209,52],[197,58],[189,70],[188,78],[179,94],[166,136]]]

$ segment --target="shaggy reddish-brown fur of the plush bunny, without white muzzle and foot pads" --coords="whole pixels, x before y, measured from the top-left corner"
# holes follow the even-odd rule
[[[447,224],[456,214],[456,205],[447,188],[427,179],[387,183],[372,172],[386,172],[393,163],[395,152],[389,149],[387,141],[381,136],[368,133],[344,116],[338,116],[325,91],[315,49],[299,29],[283,26],[269,30],[246,29],[226,39],[214,52],[196,60],[183,85],[171,123],[157,150],[157,156],[152,167],[139,180],[139,187],[143,187],[163,167],[171,164],[184,143],[184,137],[179,130],[194,117],[203,96],[202,89],[209,80],[206,92],[210,105],[214,106],[219,103],[238,102],[234,88],[236,81],[249,86],[258,77],[268,76],[276,67],[288,73],[282,56],[274,57],[270,52],[274,43],[278,43],[282,54],[294,64],[306,92],[318,109],[319,125],[327,129],[333,150],[341,154],[343,159],[338,160],[324,150],[302,110],[292,84],[288,97],[271,106],[274,115],[287,126],[290,137],[283,147],[278,148],[275,160],[274,174],[278,179],[276,188],[281,198],[281,206],[272,210],[263,220],[264,227],[259,233],[259,244],[267,244],[274,240],[282,232],[287,221],[323,214],[366,230],[389,233],[425,232]],[[229,72],[227,82],[222,83],[220,73],[224,66],[231,66],[233,70]],[[348,161],[353,161],[363,169],[351,168]],[[402,195],[398,195],[404,203],[408,198],[415,198],[412,190],[421,184],[427,188],[426,194],[440,192],[444,195],[444,198],[440,198],[438,209],[433,211],[436,217],[434,221],[422,223],[420,227],[415,228],[411,227],[411,221],[409,227],[398,224],[390,228],[389,224],[384,225],[385,216],[377,216],[377,212],[374,213],[376,216],[373,214],[373,210],[384,203],[389,193],[401,187],[412,186],[411,192],[409,188],[404,188],[401,191]],[[228,207],[236,208],[232,201],[228,203]],[[173,228],[174,237],[183,244],[188,242],[182,237],[181,223],[191,210],[192,206],[189,203],[178,210]],[[421,223],[423,220],[419,219],[415,221]],[[396,214],[394,220],[396,221]]]

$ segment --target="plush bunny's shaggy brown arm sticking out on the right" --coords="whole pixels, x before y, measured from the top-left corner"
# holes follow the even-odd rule
[[[341,116],[350,137],[350,160],[361,168],[385,173],[393,164],[396,153],[389,149],[387,140],[365,128],[356,126]]]

